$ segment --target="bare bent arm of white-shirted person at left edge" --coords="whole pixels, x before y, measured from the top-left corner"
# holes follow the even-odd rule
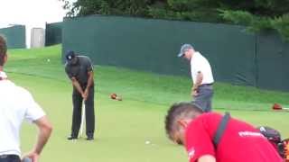
[[[52,126],[46,116],[43,116],[42,118],[34,122],[39,130],[37,135],[37,141],[35,146],[33,147],[33,150],[25,157],[30,157],[32,158],[33,162],[38,162],[38,158],[42,153],[42,149],[44,148],[46,142],[51,136]]]

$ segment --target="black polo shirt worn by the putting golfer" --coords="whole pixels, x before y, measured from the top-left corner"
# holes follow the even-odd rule
[[[89,79],[89,71],[93,71],[93,65],[90,58],[86,56],[76,56],[78,62],[75,65],[65,64],[65,72],[70,77],[75,77],[80,85],[87,85]]]

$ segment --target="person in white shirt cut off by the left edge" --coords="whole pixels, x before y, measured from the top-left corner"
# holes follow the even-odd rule
[[[6,61],[6,41],[0,35],[0,162],[21,161],[19,131],[23,120],[33,122],[38,127],[36,143],[24,156],[37,162],[51,136],[52,126],[32,94],[8,79],[4,72]]]

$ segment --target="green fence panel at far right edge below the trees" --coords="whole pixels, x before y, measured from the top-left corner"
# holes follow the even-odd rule
[[[276,33],[257,36],[257,86],[289,91],[289,43]]]

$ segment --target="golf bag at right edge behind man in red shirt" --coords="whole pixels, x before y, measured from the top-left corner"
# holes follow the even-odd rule
[[[270,143],[274,146],[274,148],[278,151],[279,155],[281,157],[284,157],[284,159],[288,160],[289,162],[289,139],[281,139],[280,132],[278,130],[275,130],[273,128],[267,127],[267,126],[261,126],[257,128],[260,130],[260,132],[270,141]]]

